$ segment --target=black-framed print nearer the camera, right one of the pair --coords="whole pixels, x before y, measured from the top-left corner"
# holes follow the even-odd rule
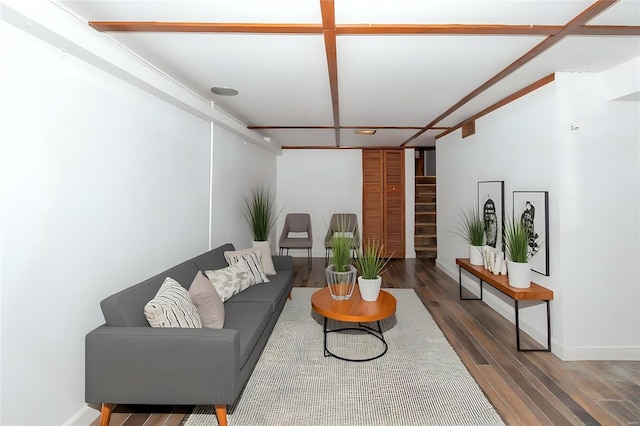
[[[530,221],[538,234],[538,252],[529,262],[531,270],[549,276],[549,191],[513,191],[513,214]]]

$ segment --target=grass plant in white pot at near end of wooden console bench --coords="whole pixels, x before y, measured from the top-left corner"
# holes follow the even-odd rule
[[[531,285],[529,261],[538,252],[538,237],[529,233],[519,217],[511,216],[504,223],[507,270],[511,287],[528,288]]]

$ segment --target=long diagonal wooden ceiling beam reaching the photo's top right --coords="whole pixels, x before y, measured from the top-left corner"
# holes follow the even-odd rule
[[[595,18],[596,16],[598,16],[599,14],[601,14],[602,12],[604,12],[605,10],[607,10],[608,8],[616,4],[618,1],[619,0],[597,0],[595,3],[593,3],[587,9],[585,9],[578,16],[576,16],[571,21],[569,21],[565,26],[563,26],[561,31],[545,38],[543,41],[538,43],[536,46],[534,46],[531,50],[526,52],[524,55],[520,56],[511,64],[507,65],[507,67],[504,68],[502,71],[498,72],[489,80],[481,84],[474,91],[466,95],[464,98],[460,99],[455,105],[453,105],[448,110],[446,110],[445,112],[443,112],[442,114],[440,114],[439,116],[431,120],[431,122],[426,126],[424,126],[422,130],[420,130],[415,135],[411,136],[409,139],[404,141],[400,146],[407,145],[409,142],[413,141],[414,139],[422,135],[424,132],[429,130],[432,126],[435,126],[436,124],[438,124],[444,118],[451,115],[451,113],[458,110],[461,106],[465,105],[467,102],[469,102],[470,100],[478,96],[480,93],[484,92],[489,87],[493,86],[500,80],[504,79],[506,76],[508,76],[518,68],[522,67],[527,62],[531,61],[533,58],[540,55],[542,52],[551,48],[560,40],[570,35],[573,31],[580,28],[582,25],[589,22],[590,20],[592,20],[593,18]]]

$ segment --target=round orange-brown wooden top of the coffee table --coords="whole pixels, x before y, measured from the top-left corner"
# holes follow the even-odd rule
[[[344,322],[372,322],[390,317],[396,312],[396,298],[380,290],[378,300],[365,302],[356,285],[349,300],[333,300],[329,287],[324,287],[311,296],[311,307],[320,315]]]

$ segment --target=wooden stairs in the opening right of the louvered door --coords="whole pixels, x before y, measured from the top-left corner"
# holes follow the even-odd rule
[[[435,258],[438,254],[436,236],[436,177],[416,176],[416,257]]]

